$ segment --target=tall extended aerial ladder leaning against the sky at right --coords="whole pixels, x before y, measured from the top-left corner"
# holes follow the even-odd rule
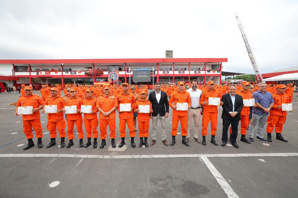
[[[254,54],[252,53],[252,48],[250,47],[250,44],[249,44],[249,42],[247,40],[246,34],[245,34],[244,29],[243,29],[243,27],[241,25],[241,22],[240,22],[240,19],[238,17],[238,14],[237,14],[237,12],[235,12],[234,14],[235,14],[236,20],[238,22],[238,26],[239,26],[240,32],[242,34],[242,38],[243,38],[243,41],[244,41],[246,50],[248,52],[248,56],[249,56],[250,62],[252,63],[252,67],[254,68],[254,73],[256,74],[257,82],[260,83],[260,82],[262,82],[263,76],[260,73],[260,69],[259,69],[258,64],[257,64],[257,61],[256,61],[256,59],[254,57]]]

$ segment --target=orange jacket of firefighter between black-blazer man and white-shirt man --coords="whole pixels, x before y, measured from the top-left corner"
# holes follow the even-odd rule
[[[173,102],[175,106],[177,103],[188,103],[188,106],[191,106],[190,95],[185,90],[182,93],[179,91],[173,92],[169,100],[169,106],[172,109],[173,109]],[[177,111],[176,109],[173,109],[173,115],[187,116],[187,111]]]

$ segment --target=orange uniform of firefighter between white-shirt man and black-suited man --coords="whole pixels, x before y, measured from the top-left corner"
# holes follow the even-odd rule
[[[221,92],[217,89],[210,91],[208,88],[205,89],[201,95],[200,104],[203,105],[204,101],[209,101],[209,97],[220,98]],[[207,126],[211,120],[211,135],[216,136],[217,131],[217,106],[204,105],[203,117],[202,117],[202,135],[207,135]]]

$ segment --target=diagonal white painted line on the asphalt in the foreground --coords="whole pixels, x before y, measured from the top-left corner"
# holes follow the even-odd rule
[[[219,186],[221,186],[221,188],[224,190],[224,192],[226,193],[226,195],[228,197],[237,198],[238,195],[231,188],[231,186],[226,182],[226,180],[224,179],[224,177],[218,172],[218,170],[215,168],[215,166],[213,166],[213,164],[211,163],[211,161],[206,156],[202,156],[201,159],[203,160],[203,162],[205,163],[205,165],[207,166],[207,168],[209,169],[209,171],[211,172],[211,174],[213,175],[213,177],[219,183]]]

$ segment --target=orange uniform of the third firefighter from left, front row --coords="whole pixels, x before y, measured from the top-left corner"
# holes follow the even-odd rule
[[[81,98],[75,97],[75,98],[69,98],[66,100],[66,106],[73,106],[76,105],[77,109],[81,109],[81,105],[83,104],[83,100]],[[66,120],[67,120],[67,136],[69,140],[74,139],[74,126],[77,126],[77,132],[79,133],[78,138],[83,139],[84,138],[84,132],[83,132],[83,118],[82,114],[76,113],[76,114],[66,114]]]

